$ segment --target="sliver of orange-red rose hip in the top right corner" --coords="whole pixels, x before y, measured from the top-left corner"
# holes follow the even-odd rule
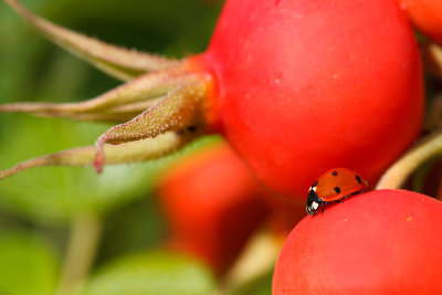
[[[441,0],[397,0],[413,24],[442,44],[442,1]]]

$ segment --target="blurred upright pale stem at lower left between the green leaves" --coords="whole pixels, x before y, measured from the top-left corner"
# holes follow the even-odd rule
[[[73,218],[56,294],[81,294],[82,284],[94,262],[102,233],[102,220],[94,213]]]

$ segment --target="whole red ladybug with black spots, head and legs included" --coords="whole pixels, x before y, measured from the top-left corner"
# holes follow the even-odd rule
[[[368,188],[368,182],[355,171],[347,168],[332,169],[322,175],[308,189],[307,213],[312,217],[320,211],[324,204],[341,202],[341,199],[357,194]]]

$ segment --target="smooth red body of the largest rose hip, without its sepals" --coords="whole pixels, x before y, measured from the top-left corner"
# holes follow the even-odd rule
[[[421,64],[393,0],[231,0],[199,59],[215,128],[297,203],[334,167],[373,183],[419,134]]]

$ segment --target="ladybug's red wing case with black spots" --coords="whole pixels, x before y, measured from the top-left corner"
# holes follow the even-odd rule
[[[319,177],[316,193],[323,201],[332,202],[362,191],[367,187],[367,181],[355,171],[347,168],[337,168]]]

